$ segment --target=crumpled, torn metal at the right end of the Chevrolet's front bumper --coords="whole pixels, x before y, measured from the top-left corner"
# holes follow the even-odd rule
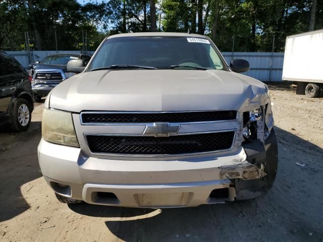
[[[258,168],[256,165],[253,165],[248,161],[244,161],[241,164],[220,167],[220,175],[223,179],[258,179],[266,175],[263,169],[263,164],[261,164],[260,168]]]

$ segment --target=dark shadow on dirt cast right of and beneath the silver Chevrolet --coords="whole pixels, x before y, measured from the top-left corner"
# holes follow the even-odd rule
[[[271,191],[258,199],[194,208],[89,204],[69,208],[82,215],[105,218],[107,229],[125,241],[305,241],[309,236],[320,241],[323,195],[317,193],[317,188],[323,187],[323,149],[278,127],[275,131],[279,142],[278,175]]]

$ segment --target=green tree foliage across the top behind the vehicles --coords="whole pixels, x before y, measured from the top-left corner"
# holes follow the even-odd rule
[[[311,7],[312,0],[5,0],[0,49],[23,48],[25,32],[34,49],[95,49],[110,34],[150,31],[157,19],[157,31],[189,29],[223,51],[272,51],[274,35],[283,51],[286,36],[308,31]],[[323,28],[322,9],[317,1],[314,29]]]

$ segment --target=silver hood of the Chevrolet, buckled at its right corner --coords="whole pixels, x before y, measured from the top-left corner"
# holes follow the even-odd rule
[[[59,84],[51,92],[49,106],[72,112],[243,111],[268,100],[265,84],[233,72],[102,70],[81,73]]]

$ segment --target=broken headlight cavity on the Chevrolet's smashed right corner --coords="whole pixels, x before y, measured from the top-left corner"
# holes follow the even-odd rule
[[[257,139],[257,121],[262,118],[262,108],[243,113],[242,135],[248,140]]]

